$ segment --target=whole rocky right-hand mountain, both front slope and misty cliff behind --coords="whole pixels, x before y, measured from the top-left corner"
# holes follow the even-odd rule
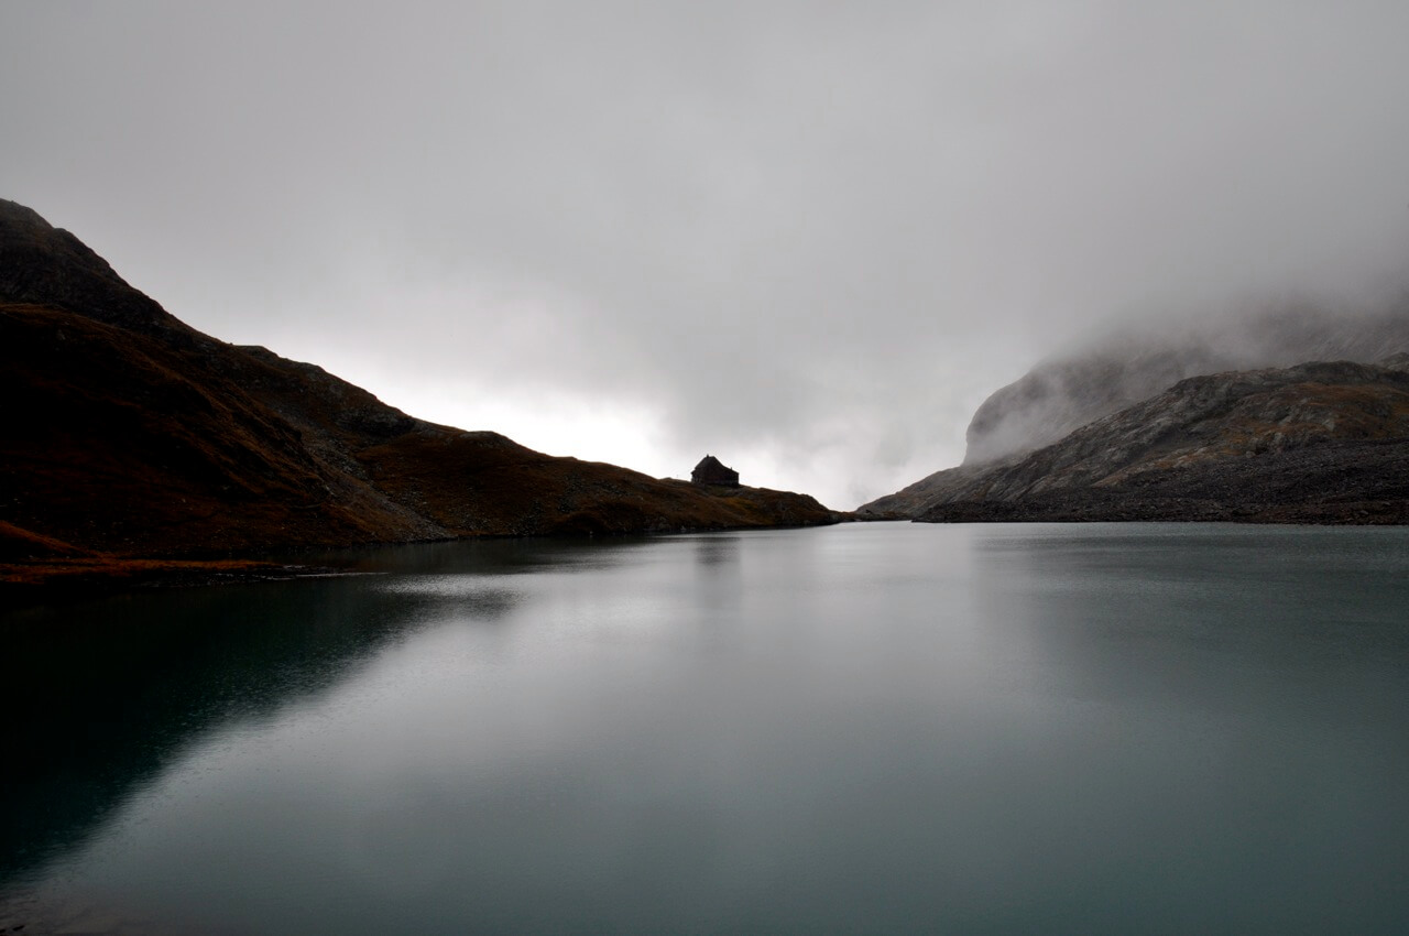
[[[1402,523],[1406,361],[1409,293],[1126,328],[996,390],[962,465],[861,512]]]

